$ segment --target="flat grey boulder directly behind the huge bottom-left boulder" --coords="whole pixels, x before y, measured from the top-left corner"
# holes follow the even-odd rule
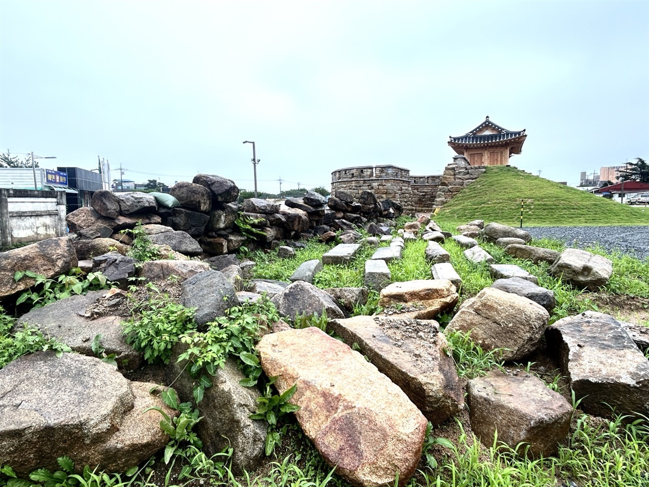
[[[16,321],[14,332],[28,325],[42,331],[45,336],[66,343],[73,351],[88,356],[95,355],[92,341],[101,334],[100,343],[106,349],[106,354],[116,354],[120,368],[136,369],[140,366],[141,354],[126,342],[120,324],[122,318],[95,318],[87,312],[104,295],[106,291],[90,291],[86,295],[73,295],[42,308],[34,308]]]

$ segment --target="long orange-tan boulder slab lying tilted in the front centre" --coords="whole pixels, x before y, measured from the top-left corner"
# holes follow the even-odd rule
[[[360,353],[316,327],[267,334],[263,371],[291,403],[304,434],[354,486],[404,486],[421,457],[426,418]]]

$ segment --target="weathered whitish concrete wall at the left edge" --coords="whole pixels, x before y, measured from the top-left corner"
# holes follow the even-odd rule
[[[2,247],[38,242],[66,233],[65,192],[0,188]]]

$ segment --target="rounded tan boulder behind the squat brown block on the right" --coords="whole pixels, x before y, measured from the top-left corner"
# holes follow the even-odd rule
[[[536,349],[549,319],[543,306],[526,297],[484,288],[462,303],[445,333],[471,333],[485,351],[499,349],[502,360],[519,360]]]

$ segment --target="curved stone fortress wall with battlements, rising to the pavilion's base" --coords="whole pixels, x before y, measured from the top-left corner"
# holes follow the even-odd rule
[[[354,197],[371,191],[377,199],[400,203],[408,213],[430,212],[443,206],[485,171],[485,166],[469,166],[464,156],[453,157],[442,175],[410,175],[398,166],[359,166],[331,173],[331,190],[349,191]]]

